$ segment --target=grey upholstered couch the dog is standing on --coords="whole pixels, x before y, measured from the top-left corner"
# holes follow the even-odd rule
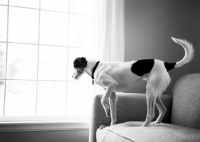
[[[200,142],[200,73],[183,76],[172,94],[162,95],[167,113],[161,124],[140,127],[146,117],[145,94],[117,95],[118,121],[113,126],[100,103],[102,94],[94,97],[89,142]],[[156,109],[153,121],[157,116]]]

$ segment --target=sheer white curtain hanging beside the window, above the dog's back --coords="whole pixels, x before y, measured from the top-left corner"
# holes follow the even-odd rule
[[[124,61],[124,0],[94,0],[95,52],[101,61]]]

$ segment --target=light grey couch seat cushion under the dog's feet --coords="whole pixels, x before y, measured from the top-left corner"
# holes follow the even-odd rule
[[[98,129],[97,142],[200,142],[200,130],[173,124],[126,122]]]

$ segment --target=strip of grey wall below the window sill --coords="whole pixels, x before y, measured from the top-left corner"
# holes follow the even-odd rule
[[[1,142],[88,142],[88,130],[0,133]]]

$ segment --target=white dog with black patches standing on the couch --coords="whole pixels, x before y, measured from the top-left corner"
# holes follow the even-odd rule
[[[185,50],[182,60],[168,63],[158,59],[143,59],[130,62],[100,62],[94,59],[78,57],[74,60],[74,79],[79,79],[85,72],[92,77],[93,82],[102,86],[106,92],[101,99],[101,104],[106,116],[111,117],[111,124],[117,122],[117,96],[115,92],[125,92],[139,80],[146,80],[147,115],[142,127],[148,126],[154,118],[155,106],[159,110],[159,116],[154,122],[161,123],[167,109],[160,96],[170,84],[169,71],[179,68],[190,62],[194,56],[193,45],[182,39],[171,37]]]

